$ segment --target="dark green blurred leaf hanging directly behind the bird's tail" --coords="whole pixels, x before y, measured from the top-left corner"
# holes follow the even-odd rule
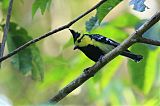
[[[133,45],[131,47],[133,53],[143,56],[143,60],[136,63],[132,60],[128,61],[129,72],[132,78],[132,83],[137,88],[143,91],[145,82],[145,69],[147,65],[147,57],[149,55],[149,50],[145,45]]]

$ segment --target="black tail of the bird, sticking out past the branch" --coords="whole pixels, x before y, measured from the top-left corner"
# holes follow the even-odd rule
[[[129,51],[124,51],[124,52],[122,52],[121,55],[126,56],[126,57],[134,60],[135,62],[140,62],[143,59],[143,56],[133,54],[133,53],[131,53]]]

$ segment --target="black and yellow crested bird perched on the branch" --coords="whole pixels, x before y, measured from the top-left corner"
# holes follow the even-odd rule
[[[97,62],[105,54],[117,47],[119,43],[104,37],[99,34],[80,34],[72,29],[69,29],[74,39],[74,50],[81,50],[88,58]],[[143,59],[143,56],[136,55],[129,50],[123,51],[120,55],[128,57],[135,62],[139,62]]]

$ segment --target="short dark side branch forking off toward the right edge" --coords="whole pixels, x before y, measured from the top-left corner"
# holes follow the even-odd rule
[[[152,40],[152,39],[148,39],[148,38],[144,38],[144,37],[139,37],[137,42],[160,46],[160,41]]]

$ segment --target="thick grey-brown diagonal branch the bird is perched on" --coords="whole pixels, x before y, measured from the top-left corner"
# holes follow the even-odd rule
[[[136,43],[137,38],[142,37],[142,34],[146,32],[150,27],[152,27],[155,23],[160,20],[160,11],[157,12],[151,19],[146,21],[139,29],[137,29],[129,38],[123,41],[118,47],[113,49],[111,52],[106,54],[101,61],[95,63],[88,70],[84,70],[84,72],[77,77],[75,80],[70,82],[67,86],[61,89],[53,98],[49,100],[50,103],[57,103],[64,97],[66,97],[70,92],[75,90],[77,87],[82,85],[86,80],[93,77],[104,65],[113,60],[116,56],[118,56],[122,51],[126,50],[132,44]]]

